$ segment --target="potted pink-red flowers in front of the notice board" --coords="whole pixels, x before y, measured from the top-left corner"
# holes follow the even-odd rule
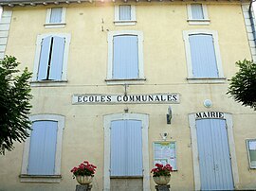
[[[151,173],[153,173],[154,182],[158,185],[166,185],[168,182],[170,182],[171,172],[173,172],[173,167],[169,164],[155,164],[155,167],[151,170]]]

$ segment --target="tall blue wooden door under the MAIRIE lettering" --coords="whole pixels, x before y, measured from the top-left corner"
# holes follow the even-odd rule
[[[229,141],[225,120],[196,120],[201,190],[232,190]]]

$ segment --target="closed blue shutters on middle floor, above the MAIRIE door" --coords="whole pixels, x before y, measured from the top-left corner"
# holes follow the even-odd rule
[[[192,74],[195,78],[217,78],[213,38],[208,34],[190,35]]]

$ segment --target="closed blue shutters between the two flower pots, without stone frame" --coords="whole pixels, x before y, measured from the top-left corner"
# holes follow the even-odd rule
[[[142,176],[141,121],[111,123],[111,176]]]

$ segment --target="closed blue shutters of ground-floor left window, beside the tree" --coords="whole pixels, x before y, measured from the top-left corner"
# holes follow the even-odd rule
[[[33,122],[27,166],[28,175],[54,175],[56,143],[56,121]]]

